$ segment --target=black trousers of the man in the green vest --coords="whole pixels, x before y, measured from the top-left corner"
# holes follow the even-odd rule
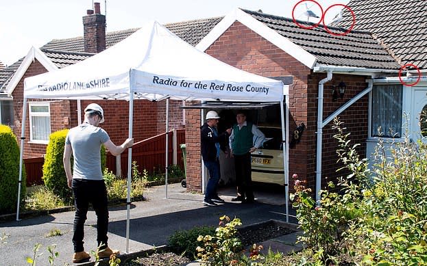
[[[246,200],[254,200],[251,154],[247,152],[244,155],[234,155],[234,166],[236,168],[237,193]]]

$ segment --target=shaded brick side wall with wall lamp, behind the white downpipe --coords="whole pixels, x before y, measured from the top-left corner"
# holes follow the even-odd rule
[[[308,84],[308,96],[310,97],[308,105],[308,122],[307,122],[307,133],[310,136],[306,138],[308,142],[308,155],[307,155],[307,176],[308,184],[310,187],[315,187],[316,178],[316,148],[317,148],[317,95],[318,85],[321,79],[324,79],[326,74],[315,73],[310,75]],[[356,96],[359,92],[367,88],[365,83],[365,76],[354,76],[354,75],[338,75],[333,74],[332,80],[328,81],[324,85],[324,116],[323,120],[328,118],[335,110],[339,109],[341,105],[350,101],[351,98]],[[344,81],[347,85],[347,89],[344,94],[344,98],[338,98],[337,101],[332,101],[332,85],[338,85],[340,81]],[[368,131],[368,101],[369,98],[365,95],[359,99],[352,106],[347,108],[343,113],[339,114],[339,120],[344,122],[343,127],[346,127],[346,132],[351,133],[350,139],[352,144],[361,144],[358,146],[358,154],[362,158],[366,155],[366,139]],[[334,135],[337,131],[332,130],[334,125],[333,121],[326,124],[323,129],[322,135],[322,184],[321,188],[326,188],[328,181],[336,181],[338,176],[345,176],[348,172],[336,172],[338,168],[343,165],[337,163],[337,148],[338,142],[334,139]],[[327,179],[326,179],[327,178]],[[314,190],[313,190],[314,191]]]

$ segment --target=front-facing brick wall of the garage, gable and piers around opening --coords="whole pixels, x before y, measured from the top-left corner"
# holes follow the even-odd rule
[[[264,77],[280,77],[286,75],[294,76],[294,83],[290,86],[290,106],[291,113],[290,128],[295,129],[300,122],[307,121],[307,76],[310,69],[298,62],[295,58],[284,53],[277,46],[271,44],[251,29],[239,22],[235,22],[223,35],[221,35],[206,53],[217,59],[240,68],[247,72]],[[188,119],[186,123],[187,153],[199,157],[187,157],[187,184],[190,190],[201,187],[201,158],[199,155],[199,111],[187,111]],[[289,170],[297,172],[302,178],[306,174],[306,151],[307,144],[303,141],[298,144],[297,149],[290,150]],[[191,144],[188,144],[190,142]],[[190,161],[191,160],[191,161]],[[193,162],[193,163],[192,163]],[[192,184],[195,182],[195,185]]]

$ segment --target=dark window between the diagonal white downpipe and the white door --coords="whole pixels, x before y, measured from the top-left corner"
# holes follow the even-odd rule
[[[402,85],[374,85],[372,89],[373,137],[401,137]]]

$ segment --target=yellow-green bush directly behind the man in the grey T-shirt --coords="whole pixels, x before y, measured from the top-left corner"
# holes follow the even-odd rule
[[[43,181],[47,189],[60,196],[64,200],[70,201],[73,192],[68,187],[62,157],[64,155],[64,145],[66,133],[69,129],[56,131],[49,136],[49,144],[46,148],[45,163],[43,164]]]

